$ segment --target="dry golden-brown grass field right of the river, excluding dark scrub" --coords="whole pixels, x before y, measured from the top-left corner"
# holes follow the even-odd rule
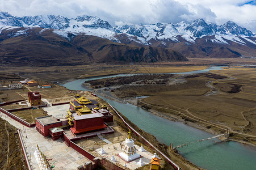
[[[212,72],[233,76],[235,79],[213,82],[217,83],[216,87],[221,91],[218,95],[204,96],[203,90],[191,87],[151,94],[152,96],[142,99],[142,102],[159,111],[161,107],[163,112],[169,109],[170,114],[177,115],[183,111],[182,113],[196,120],[205,120],[222,127],[229,127],[239,133],[256,135],[256,69],[234,67]],[[190,79],[206,78],[201,76]],[[228,83],[241,84],[241,91],[227,93],[226,91],[232,88]],[[137,93],[140,94],[141,91]]]

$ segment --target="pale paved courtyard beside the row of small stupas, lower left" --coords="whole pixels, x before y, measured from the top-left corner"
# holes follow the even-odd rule
[[[54,163],[54,169],[77,169],[79,165],[84,165],[89,161],[85,156],[73,150],[72,147],[66,146],[61,139],[52,141],[51,138],[43,137],[35,128],[27,128],[2,112],[0,112],[0,116],[21,130],[32,169],[40,169],[33,154],[37,144],[47,159],[51,159],[49,160],[51,165],[57,160]]]

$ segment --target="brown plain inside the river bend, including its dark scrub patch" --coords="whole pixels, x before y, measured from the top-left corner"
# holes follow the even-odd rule
[[[156,110],[167,118],[183,119],[189,124],[197,122],[205,130],[217,133],[230,128],[234,135],[230,138],[256,144],[256,69],[232,67],[211,72],[233,78],[215,80],[201,75],[172,86],[123,86],[114,94],[118,97],[149,96],[141,99],[142,108]],[[205,95],[211,91],[205,86],[210,80],[219,94]]]

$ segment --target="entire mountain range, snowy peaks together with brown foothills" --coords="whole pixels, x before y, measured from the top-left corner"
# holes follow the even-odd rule
[[[52,51],[52,44],[55,44],[62,55],[86,54],[88,61],[95,61],[98,55],[106,57],[96,59],[102,62],[110,61],[108,57],[112,58],[111,61],[131,62],[185,61],[181,55],[185,58],[256,57],[256,35],[232,21],[217,25],[196,19],[192,23],[112,27],[96,16],[83,15],[72,19],[54,15],[15,17],[0,12],[0,57],[5,57],[7,53],[10,58],[20,54],[11,50],[12,46],[21,46],[17,45],[17,39],[24,46],[28,43],[47,43],[41,51],[41,57],[55,53],[55,50]],[[40,45],[34,47],[39,48]],[[38,52],[38,48],[34,52]],[[66,53],[66,50],[69,52]],[[49,53],[45,54],[45,51]],[[28,53],[30,50],[23,52],[24,56],[28,56]],[[161,56],[165,56],[165,59],[161,59]]]

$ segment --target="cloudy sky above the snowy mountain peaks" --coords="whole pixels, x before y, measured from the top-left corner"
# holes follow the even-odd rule
[[[99,16],[112,26],[129,23],[178,23],[203,18],[228,20],[256,32],[256,0],[0,0],[0,10],[14,16]]]

